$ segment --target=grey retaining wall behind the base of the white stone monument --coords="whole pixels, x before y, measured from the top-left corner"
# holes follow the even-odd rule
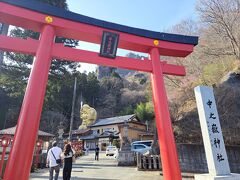
[[[208,172],[203,145],[178,144],[182,172]],[[231,172],[240,173],[240,146],[226,146]]]

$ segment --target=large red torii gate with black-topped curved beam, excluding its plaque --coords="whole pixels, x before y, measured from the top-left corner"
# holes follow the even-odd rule
[[[34,0],[0,0],[0,22],[41,33],[40,40],[0,36],[0,49],[36,56],[22,103],[5,180],[29,178],[48,72],[53,58],[151,73],[164,179],[181,179],[163,74],[184,76],[185,69],[161,61],[160,55],[186,57],[197,45],[197,37],[131,28],[78,15]],[[149,53],[150,59],[136,60],[117,56],[113,60],[100,57],[95,52],[54,43],[55,36],[60,36],[101,44],[103,31],[119,35],[119,48]]]

